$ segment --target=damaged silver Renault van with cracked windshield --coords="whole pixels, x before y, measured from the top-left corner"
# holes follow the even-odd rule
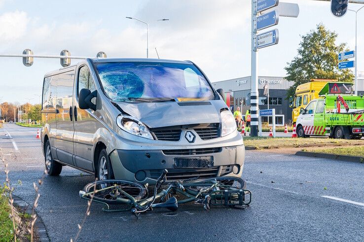
[[[155,183],[240,177],[245,147],[231,111],[190,61],[86,59],[44,76],[41,143],[49,175]]]

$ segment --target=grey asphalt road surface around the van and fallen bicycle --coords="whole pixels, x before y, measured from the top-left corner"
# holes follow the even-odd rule
[[[4,131],[11,138],[1,136]],[[33,182],[44,170],[40,140],[35,137],[34,128],[5,124],[0,130],[0,154],[9,163],[14,193],[29,204],[34,202]],[[3,170],[1,164],[1,183]],[[188,204],[177,212],[147,212],[137,220],[129,212],[107,213],[93,204],[79,240],[363,241],[363,177],[360,163],[247,151],[243,178],[253,193],[251,207],[205,211]],[[78,191],[93,180],[68,167],[58,177],[45,178],[36,211],[51,241],[75,237],[87,206]]]

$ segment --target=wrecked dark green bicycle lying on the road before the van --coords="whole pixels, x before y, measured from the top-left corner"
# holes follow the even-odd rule
[[[167,170],[164,170],[148,197],[147,186],[124,180],[100,180],[87,184],[79,191],[83,199],[104,205],[104,211],[131,211],[139,213],[153,208],[175,211],[179,204],[194,202],[208,210],[211,206],[245,208],[251,203],[252,193],[246,183],[237,177],[215,177],[197,180],[171,181],[165,189]],[[161,190],[160,192],[158,192]],[[179,198],[177,200],[177,197]],[[109,205],[126,205],[122,209],[110,209]]]

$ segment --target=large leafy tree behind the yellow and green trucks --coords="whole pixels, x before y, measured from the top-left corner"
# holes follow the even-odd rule
[[[353,82],[354,74],[350,69],[338,69],[339,52],[347,51],[346,43],[335,44],[337,34],[317,25],[315,30],[301,36],[298,54],[285,68],[287,80],[294,81],[287,92],[287,99],[294,96],[296,87],[311,79],[338,79]]]

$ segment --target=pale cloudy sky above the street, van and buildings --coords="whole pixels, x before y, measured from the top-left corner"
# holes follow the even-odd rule
[[[285,76],[300,36],[319,23],[354,50],[355,13],[336,18],[328,1],[281,1],[297,3],[299,16],[279,18],[279,43],[258,51],[258,75]],[[350,9],[360,6],[349,3]],[[251,74],[251,0],[0,0],[0,54],[29,48],[59,55],[67,49],[73,56],[104,51],[113,58],[145,58],[146,25],[126,16],[149,23],[150,58],[157,58],[156,48],[163,59],[193,61],[212,82]],[[163,18],[170,20],[157,21]],[[364,10],[358,13],[358,70],[364,70],[362,25]],[[59,68],[59,59],[36,58],[25,67],[21,58],[0,57],[0,103],[40,103],[44,74]]]

